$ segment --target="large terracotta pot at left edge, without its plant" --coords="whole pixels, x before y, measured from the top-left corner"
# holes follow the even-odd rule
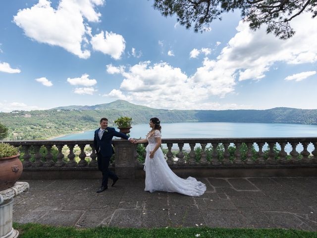
[[[20,178],[23,165],[19,156],[20,154],[0,158],[0,191],[12,187]]]

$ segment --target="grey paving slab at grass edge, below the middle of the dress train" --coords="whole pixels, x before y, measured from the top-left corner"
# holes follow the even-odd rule
[[[197,206],[170,206],[169,218],[173,227],[206,226]]]

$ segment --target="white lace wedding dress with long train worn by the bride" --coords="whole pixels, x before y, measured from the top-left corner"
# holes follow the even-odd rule
[[[145,191],[167,191],[178,192],[188,196],[201,196],[206,191],[206,185],[195,178],[179,178],[168,167],[161,148],[159,148],[153,158],[150,158],[156,144],[157,138],[160,137],[160,131],[155,130],[151,137],[147,136],[149,142],[146,151],[144,170],[145,170]]]

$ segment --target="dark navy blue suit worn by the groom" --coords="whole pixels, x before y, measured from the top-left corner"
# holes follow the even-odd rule
[[[126,134],[116,131],[113,127],[107,127],[100,139],[98,135],[99,130],[100,128],[95,130],[94,146],[97,152],[98,169],[103,173],[102,185],[107,187],[108,177],[112,180],[118,178],[112,171],[109,171],[110,158],[114,153],[111,144],[112,137],[116,136],[123,139],[128,139],[129,137]]]

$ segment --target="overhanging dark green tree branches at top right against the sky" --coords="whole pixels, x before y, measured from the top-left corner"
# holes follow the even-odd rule
[[[267,33],[288,39],[295,34],[289,22],[304,11],[316,17],[317,0],[154,0],[154,8],[164,16],[176,14],[187,29],[194,24],[195,32],[209,29],[212,20],[221,20],[223,12],[240,9],[251,29],[265,23]]]

